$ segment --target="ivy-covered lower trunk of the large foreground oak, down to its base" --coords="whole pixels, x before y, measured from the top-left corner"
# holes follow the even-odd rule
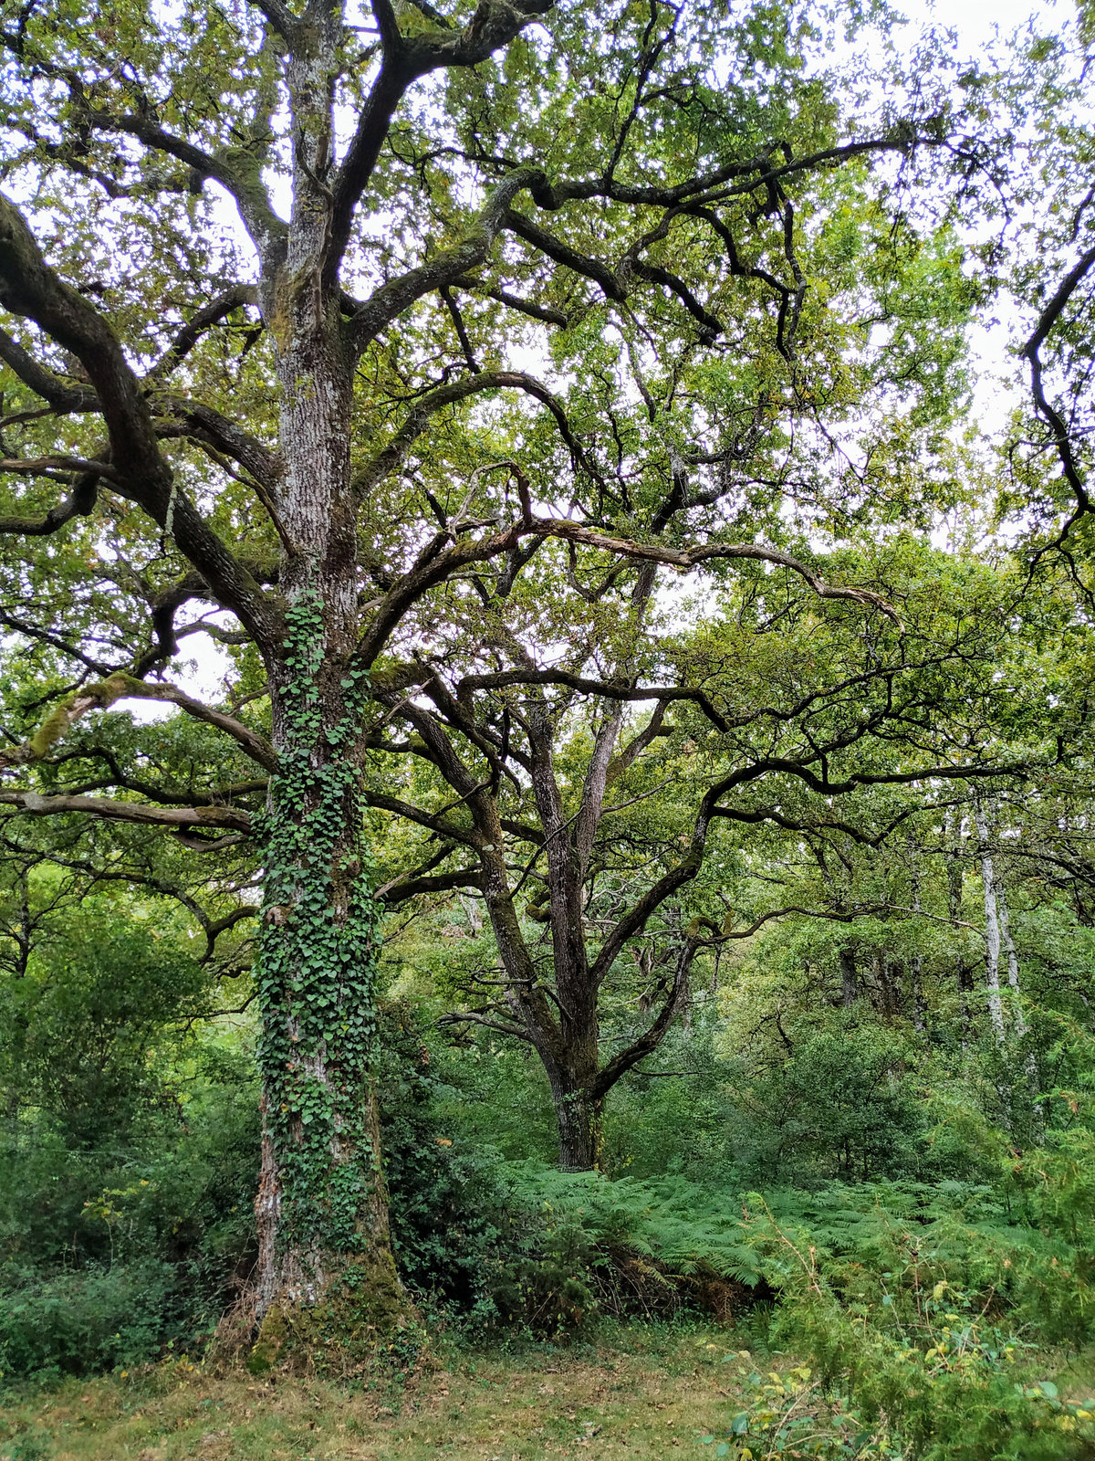
[[[304,1338],[312,1354],[324,1341],[368,1340],[402,1308],[369,1074],[378,904],[362,849],[364,685],[347,675],[337,688],[324,684],[336,660],[323,609],[315,587],[299,590],[274,698],[280,768],[267,811],[258,976],[260,1363],[288,1338]]]

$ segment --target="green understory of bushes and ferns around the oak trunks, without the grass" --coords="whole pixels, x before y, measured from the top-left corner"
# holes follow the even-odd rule
[[[210,1341],[256,1261],[253,1023],[204,1018],[187,941],[110,897],[120,935],[83,941],[98,896],[85,900],[86,957],[61,918],[55,957],[4,996],[0,1367],[15,1429],[0,1454],[12,1457],[54,1454],[26,1417],[29,1397],[58,1384],[111,1372],[143,1397],[159,1394],[158,1375],[222,1384]],[[721,992],[696,993],[660,1068],[616,1093],[606,1170],[587,1173],[552,1161],[537,1065],[488,1033],[454,1045],[390,960],[385,1172],[426,1353],[454,1373],[498,1356],[520,1388],[545,1363],[581,1366],[590,1346],[619,1354],[650,1343],[638,1334],[685,1346],[702,1334],[723,1389],[679,1439],[712,1454],[768,1455],[777,1441],[791,1455],[1091,1454],[1091,1037],[1028,1005],[1031,1049],[1069,1084],[1032,1093],[1019,1056],[1007,1088],[994,1042],[948,1058],[869,991],[850,1008],[796,1004],[787,947],[785,929],[762,937],[723,970]],[[104,972],[121,961],[120,986]],[[781,1033],[743,1049],[737,998],[748,986],[758,1008],[759,969]],[[1002,1124],[1002,1090],[1037,1141]],[[432,1386],[454,1384],[431,1378],[437,1363],[409,1337],[380,1372],[343,1384],[412,1424]],[[571,1429],[575,1443],[584,1432]],[[337,1439],[327,1454],[343,1454]]]

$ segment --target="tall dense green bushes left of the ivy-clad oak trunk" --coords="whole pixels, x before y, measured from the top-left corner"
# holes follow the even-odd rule
[[[193,1351],[254,1261],[245,1033],[194,1036],[209,980],[171,939],[89,935],[3,986],[3,1382]]]

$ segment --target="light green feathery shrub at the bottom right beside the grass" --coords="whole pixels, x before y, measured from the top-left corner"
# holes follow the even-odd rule
[[[731,1424],[723,1455],[755,1455],[750,1435],[783,1451],[803,1439],[793,1433],[807,1423],[818,1429],[807,1452],[816,1455],[1069,1461],[1092,1454],[1095,1411],[1064,1404],[1051,1381],[1025,1366],[1032,1346],[1016,1327],[1037,1311],[1022,1230],[1013,1230],[1004,1256],[984,1227],[964,1226],[953,1213],[924,1214],[929,1221],[918,1224],[908,1211],[880,1205],[858,1214],[831,1208],[828,1227],[794,1230],[756,1195],[748,1213],[749,1242],[781,1293],[771,1337],[807,1366],[790,1381],[771,1376],[766,1394]],[[838,1214],[844,1232],[834,1242]],[[1040,1239],[1031,1239],[1028,1256]],[[959,1274],[975,1287],[962,1287]],[[821,1414],[826,1397],[835,1416]],[[848,1410],[866,1426],[853,1452],[838,1446]]]

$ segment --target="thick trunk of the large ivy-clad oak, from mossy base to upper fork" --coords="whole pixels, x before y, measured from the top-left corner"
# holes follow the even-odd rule
[[[307,61],[295,57],[291,89],[298,112],[314,102],[320,120],[301,142],[289,257],[264,301],[282,397],[288,633],[267,662],[279,771],[267,808],[258,988],[263,1166],[253,1366],[299,1354],[342,1369],[400,1322],[406,1302],[369,1074],[377,903],[361,846],[368,684],[353,668],[352,356],[337,294],[317,276],[324,212],[310,209],[308,193],[323,177],[328,139],[323,67]]]

